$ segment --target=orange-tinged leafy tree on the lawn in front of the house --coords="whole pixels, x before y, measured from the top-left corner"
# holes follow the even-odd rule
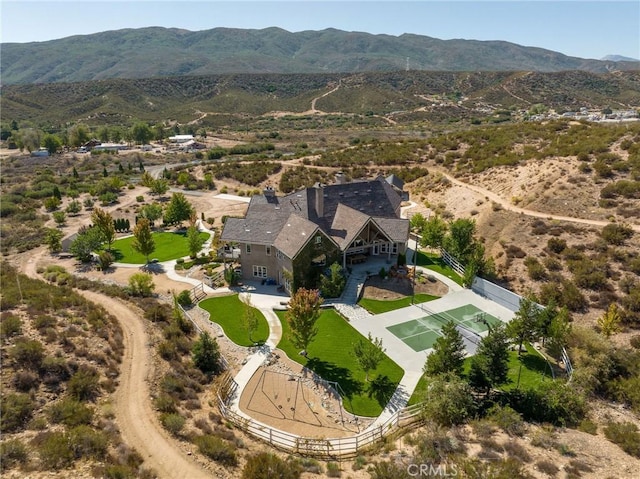
[[[306,351],[318,333],[316,321],[320,317],[322,301],[317,289],[299,288],[291,297],[286,319],[291,331],[290,340],[296,348]]]

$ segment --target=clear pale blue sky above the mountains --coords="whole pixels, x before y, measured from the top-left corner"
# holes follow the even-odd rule
[[[582,58],[640,58],[640,1],[1,0],[0,41],[47,41],[121,28],[347,31],[505,40]]]

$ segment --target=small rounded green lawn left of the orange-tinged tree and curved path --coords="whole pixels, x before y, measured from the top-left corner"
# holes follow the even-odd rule
[[[264,343],[269,337],[269,324],[264,314],[255,309],[258,317],[258,328],[249,339],[249,332],[244,324],[245,305],[237,294],[208,298],[201,301],[199,306],[211,316],[209,319],[218,323],[224,334],[234,343],[240,346],[253,346],[255,343]]]

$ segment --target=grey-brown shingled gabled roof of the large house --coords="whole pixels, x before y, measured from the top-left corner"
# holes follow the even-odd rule
[[[382,177],[305,188],[286,196],[269,189],[251,198],[244,218],[227,219],[221,239],[274,245],[293,258],[318,228],[345,249],[373,220],[390,240],[405,241],[409,223],[400,219],[401,202]]]

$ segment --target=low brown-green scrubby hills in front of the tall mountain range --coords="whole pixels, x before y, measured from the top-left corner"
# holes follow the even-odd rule
[[[327,92],[330,94],[324,95]],[[110,79],[76,83],[4,85],[7,120],[35,124],[90,121],[129,124],[168,118],[193,121],[202,112],[259,116],[274,111],[393,116],[394,121],[448,121],[479,112],[542,104],[637,108],[640,72],[369,72],[355,74],[242,74]],[[486,114],[486,113],[485,113]],[[481,115],[484,116],[484,115]]]

